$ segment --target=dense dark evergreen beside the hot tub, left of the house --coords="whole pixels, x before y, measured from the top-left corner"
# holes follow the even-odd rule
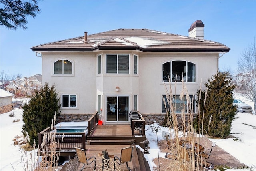
[[[24,105],[22,133],[26,136],[28,132],[31,143],[34,143],[35,139],[38,145],[38,133],[51,126],[55,113],[56,117],[60,115],[59,101],[55,86],[49,87],[46,83],[40,90],[36,90],[29,103]]]

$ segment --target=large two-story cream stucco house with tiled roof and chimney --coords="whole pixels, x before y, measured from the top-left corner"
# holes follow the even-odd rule
[[[61,118],[66,121],[98,111],[106,124],[129,124],[128,113],[136,109],[147,123],[161,123],[166,115],[162,98],[166,98],[168,75],[172,93],[179,99],[183,73],[192,98],[201,81],[207,82],[217,72],[220,56],[230,50],[203,39],[201,20],[191,25],[189,35],[117,29],[84,32],[84,36],[31,49],[42,56],[42,83],[56,85]],[[179,100],[174,102],[181,105]]]

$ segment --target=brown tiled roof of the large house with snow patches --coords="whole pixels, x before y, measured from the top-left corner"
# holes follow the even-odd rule
[[[43,51],[140,50],[144,52],[229,52],[226,45],[209,40],[149,29],[117,29],[107,32],[41,44],[31,48]]]

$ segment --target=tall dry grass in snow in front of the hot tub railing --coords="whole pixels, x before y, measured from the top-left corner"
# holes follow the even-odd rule
[[[52,119],[52,127],[56,120],[56,115]],[[62,135],[62,139],[64,134]],[[56,131],[44,133],[41,149],[36,148],[36,141],[34,140],[33,146],[30,145],[29,134],[26,133],[24,138],[24,144],[18,141],[20,137],[16,137],[14,140],[20,147],[21,162],[23,171],[54,171],[58,166],[58,160],[60,157],[61,142],[59,138],[56,138]],[[58,150],[57,150],[58,149]],[[16,166],[17,167],[17,166]],[[16,170],[16,167],[12,168]]]

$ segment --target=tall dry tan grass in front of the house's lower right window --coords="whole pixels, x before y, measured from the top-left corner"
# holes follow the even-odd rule
[[[176,82],[174,87],[175,93]],[[196,144],[204,143],[204,146],[207,146],[207,141],[198,134],[202,132],[202,128],[194,129],[194,119],[196,115],[200,114],[200,111],[196,112],[196,109],[194,109],[195,96],[190,96],[184,80],[182,80],[182,91],[180,91],[179,99],[176,99],[177,96],[173,95],[170,81],[169,87],[167,88],[167,85],[165,85],[165,88],[167,100],[163,97],[163,102],[167,111],[166,127],[170,130],[167,137],[169,139],[168,149],[173,159],[167,167],[174,171],[204,170],[204,160],[202,157],[197,157],[199,153],[202,153],[202,149],[198,148],[198,151],[194,151]],[[202,89],[202,83],[200,89]],[[201,96],[198,95],[198,98],[200,99]],[[179,105],[175,103],[177,101],[179,101]],[[177,110],[180,112],[177,113]],[[210,125],[210,122],[208,123]],[[184,146],[182,142],[186,141],[190,142],[191,147],[186,148]]]

